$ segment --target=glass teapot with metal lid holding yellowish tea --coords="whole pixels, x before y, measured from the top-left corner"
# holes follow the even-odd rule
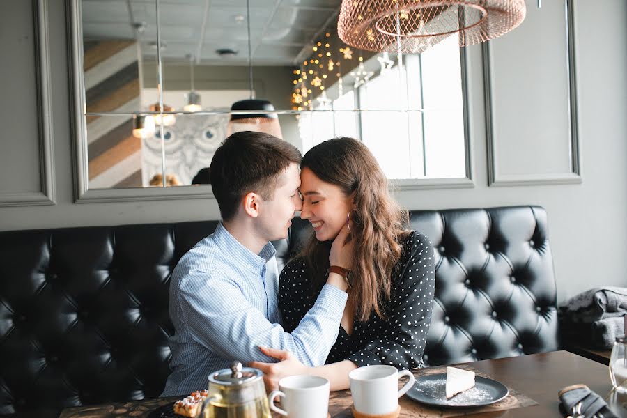
[[[233,362],[209,376],[200,418],[271,418],[263,372]]]

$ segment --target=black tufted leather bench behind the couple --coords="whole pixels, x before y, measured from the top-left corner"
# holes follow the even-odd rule
[[[435,247],[431,365],[559,348],[546,213],[414,211]],[[0,232],[0,414],[156,397],[170,274],[217,222]],[[275,242],[279,269],[309,231]]]

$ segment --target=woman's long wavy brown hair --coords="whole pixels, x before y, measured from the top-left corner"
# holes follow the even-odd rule
[[[384,318],[383,304],[390,300],[392,271],[401,258],[401,236],[408,213],[392,199],[385,173],[370,150],[353,138],[330,139],[304,155],[301,169],[310,169],[320,180],[339,186],[353,197],[350,239],[355,240],[349,297],[362,322],[372,311]],[[301,256],[320,289],[326,281],[332,242],[320,242],[314,234]]]

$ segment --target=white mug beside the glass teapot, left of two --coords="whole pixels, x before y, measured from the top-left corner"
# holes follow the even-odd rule
[[[279,380],[279,389],[268,396],[270,409],[290,418],[327,418],[329,380],[319,376],[297,375]],[[281,408],[274,398],[281,396]]]

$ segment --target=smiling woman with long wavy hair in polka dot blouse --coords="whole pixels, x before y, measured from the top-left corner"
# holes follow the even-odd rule
[[[329,270],[348,275],[348,302],[325,366],[306,367],[272,348],[261,350],[278,363],[251,366],[264,371],[268,390],[295,374],[323,376],[331,390],[341,390],[349,387],[348,373],[359,366],[421,366],[435,290],[428,238],[404,229],[407,212],[389,195],[375,157],[356,139],[330,139],[311,148],[302,159],[300,177],[300,217],[311,222],[314,235],[281,272],[284,328],[291,332],[314,305]],[[352,256],[341,258],[345,265],[330,268],[332,243],[345,234],[343,250]]]

